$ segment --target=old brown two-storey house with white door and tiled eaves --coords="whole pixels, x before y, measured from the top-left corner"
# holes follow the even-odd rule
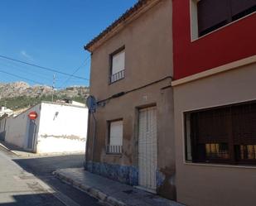
[[[85,46],[98,102],[86,169],[176,199],[171,12],[171,0],[138,1]]]

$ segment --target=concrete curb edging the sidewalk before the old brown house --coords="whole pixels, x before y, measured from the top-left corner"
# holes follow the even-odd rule
[[[128,204],[124,204],[122,201],[115,199],[114,197],[111,197],[107,194],[104,194],[99,189],[95,189],[93,187],[89,187],[86,184],[81,184],[79,181],[72,180],[65,175],[60,174],[58,171],[52,172],[52,175],[56,176],[59,180],[65,182],[66,184],[70,184],[73,187],[80,189],[81,191],[85,192],[86,194],[89,194],[90,196],[100,199],[102,202],[109,204],[111,206],[128,206]]]

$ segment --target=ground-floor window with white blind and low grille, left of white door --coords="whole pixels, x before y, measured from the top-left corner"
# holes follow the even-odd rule
[[[120,154],[123,147],[123,120],[109,122],[107,153]]]

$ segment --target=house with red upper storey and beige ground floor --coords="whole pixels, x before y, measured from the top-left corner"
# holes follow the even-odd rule
[[[256,203],[256,1],[173,0],[177,200]]]

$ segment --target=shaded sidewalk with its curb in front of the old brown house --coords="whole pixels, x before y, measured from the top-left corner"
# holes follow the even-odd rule
[[[133,186],[94,175],[83,168],[60,169],[56,170],[54,175],[85,193],[101,199],[104,203],[114,206],[184,206]]]

